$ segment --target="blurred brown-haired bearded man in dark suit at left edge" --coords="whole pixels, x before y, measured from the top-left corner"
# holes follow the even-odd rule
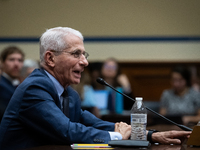
[[[1,52],[0,77],[0,121],[17,85],[23,66],[24,53],[15,46],[7,47]]]

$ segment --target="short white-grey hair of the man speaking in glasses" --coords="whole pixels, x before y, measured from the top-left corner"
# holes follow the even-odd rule
[[[44,61],[44,54],[48,50],[62,51],[68,48],[66,38],[70,35],[78,36],[83,40],[83,35],[72,28],[55,27],[47,29],[40,37],[40,62]]]

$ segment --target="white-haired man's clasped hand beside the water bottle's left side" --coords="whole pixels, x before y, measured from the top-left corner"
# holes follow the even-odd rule
[[[119,132],[122,139],[127,140],[131,136],[131,126],[124,122],[115,123],[115,132]]]

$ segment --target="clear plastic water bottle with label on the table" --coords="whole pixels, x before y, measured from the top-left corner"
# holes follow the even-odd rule
[[[131,140],[147,140],[147,110],[142,97],[136,97],[131,109]]]

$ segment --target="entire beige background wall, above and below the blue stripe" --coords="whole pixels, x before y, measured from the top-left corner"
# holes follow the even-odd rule
[[[68,26],[87,37],[200,37],[199,0],[0,0],[0,38],[38,38],[47,28]],[[38,43],[18,45],[38,59]],[[200,61],[197,41],[86,42],[89,61]]]

